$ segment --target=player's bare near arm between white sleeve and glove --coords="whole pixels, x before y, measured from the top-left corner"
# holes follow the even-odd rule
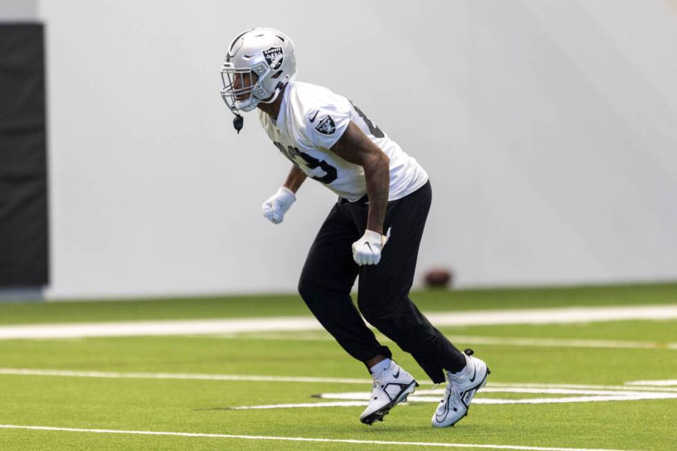
[[[367,229],[382,235],[390,190],[390,158],[354,122],[348,124],[331,150],[343,160],[364,168],[369,196]]]

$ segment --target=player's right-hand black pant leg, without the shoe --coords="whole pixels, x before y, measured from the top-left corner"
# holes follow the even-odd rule
[[[464,354],[409,298],[431,198],[430,184],[426,184],[388,204],[385,229],[391,228],[390,239],[379,265],[360,269],[358,305],[369,323],[410,352],[432,381],[441,383],[443,370],[457,372],[464,368]]]

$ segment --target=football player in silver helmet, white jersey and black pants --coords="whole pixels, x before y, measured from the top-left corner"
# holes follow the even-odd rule
[[[283,186],[263,203],[279,224],[308,178],[338,195],[310,247],[298,291],[345,351],[368,367],[374,384],[360,420],[383,421],[419,385],[392,360],[360,313],[412,354],[446,391],[432,425],[454,425],[468,411],[489,369],[460,352],[412,303],[409,291],[430,209],[428,174],[350,100],[296,81],[291,39],[272,28],[240,33],[221,66],[221,95],[236,115],[258,108],[260,124],[292,162]],[[357,305],[350,290],[359,276]]]

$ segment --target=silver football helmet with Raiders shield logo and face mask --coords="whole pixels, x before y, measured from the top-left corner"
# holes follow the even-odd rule
[[[233,113],[275,101],[296,74],[294,44],[274,28],[251,28],[231,42],[221,66],[221,97]]]

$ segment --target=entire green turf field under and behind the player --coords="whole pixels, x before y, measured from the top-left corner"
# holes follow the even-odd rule
[[[432,291],[414,297],[419,298],[423,311],[675,305],[677,285]],[[0,325],[303,314],[307,311],[296,296],[12,304],[0,305]],[[217,434],[0,428],[0,450],[439,449],[414,443],[448,443],[461,450],[477,449],[463,444],[498,447],[480,449],[511,449],[507,448],[511,445],[528,447],[524,449],[677,449],[677,320],[443,330],[458,347],[473,347],[492,370],[487,390],[479,392],[469,416],[444,430],[430,427],[435,403],[428,401],[400,405],[383,423],[371,427],[359,423],[363,409],[359,406],[231,409],[337,401],[332,394],[359,399],[360,392],[368,392],[363,365],[321,331],[0,340],[0,425]],[[388,345],[400,365],[421,381],[427,380],[412,358],[392,343]],[[19,374],[18,370],[56,373]],[[76,373],[59,373],[64,370]],[[164,375],[158,378],[158,374]],[[273,380],[249,376],[273,376]],[[281,376],[287,379],[275,380]],[[316,379],[295,379],[307,377]],[[626,385],[670,380],[673,385],[665,387]],[[426,396],[430,388],[423,383],[417,394]],[[526,392],[519,392],[522,389]],[[637,393],[655,399],[630,399]],[[318,394],[329,397],[318,399]],[[587,401],[575,401],[581,397]],[[569,402],[562,402],[566,399]],[[497,403],[501,400],[506,403]],[[538,403],[524,403],[527,400]]]

